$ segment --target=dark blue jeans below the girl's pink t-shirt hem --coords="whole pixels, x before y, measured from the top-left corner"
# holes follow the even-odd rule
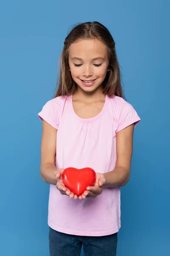
[[[50,256],[116,256],[117,233],[108,236],[75,236],[49,229]]]

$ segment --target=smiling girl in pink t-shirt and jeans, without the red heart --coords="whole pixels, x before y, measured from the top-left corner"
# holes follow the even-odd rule
[[[79,256],[83,244],[85,256],[115,256],[120,187],[140,118],[125,101],[115,42],[101,23],[81,23],[65,38],[57,92],[38,116],[50,255]],[[77,198],[62,182],[67,167],[94,169],[94,186]]]

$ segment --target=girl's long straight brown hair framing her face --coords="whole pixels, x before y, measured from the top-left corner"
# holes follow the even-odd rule
[[[77,90],[77,84],[69,71],[68,49],[73,42],[87,38],[96,38],[102,41],[108,49],[108,67],[110,68],[110,71],[107,72],[102,83],[103,93],[108,94],[108,96],[116,95],[125,99],[121,85],[121,75],[116,56],[115,42],[109,30],[97,21],[79,23],[73,27],[71,32],[65,38],[64,47],[60,57],[58,88],[54,98],[57,96],[69,96]]]

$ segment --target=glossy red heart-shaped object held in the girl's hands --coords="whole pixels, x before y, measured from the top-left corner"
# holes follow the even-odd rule
[[[96,172],[91,168],[76,169],[66,168],[62,173],[64,185],[75,195],[82,195],[87,186],[93,186],[96,180]]]

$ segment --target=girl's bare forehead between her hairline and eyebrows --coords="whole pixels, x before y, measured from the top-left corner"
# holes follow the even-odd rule
[[[107,58],[108,52],[105,44],[98,39],[82,39],[74,42],[68,49],[69,58]]]

